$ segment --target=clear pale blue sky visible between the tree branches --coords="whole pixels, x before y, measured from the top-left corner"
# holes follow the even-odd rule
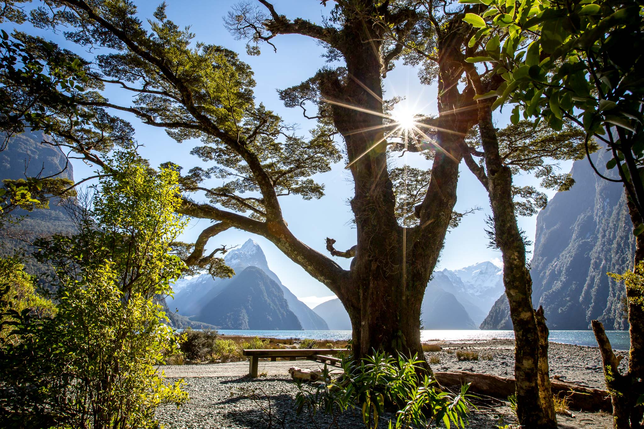
[[[136,1],[140,17],[146,19],[151,17],[158,5],[158,1]],[[307,129],[314,127],[315,122],[307,120],[296,109],[287,109],[279,101],[276,89],[290,87],[316,73],[317,69],[325,65],[325,59],[320,57],[322,48],[313,39],[300,35],[279,35],[273,42],[278,50],[274,52],[270,46],[262,46],[262,54],[259,57],[249,57],[245,53],[245,42],[236,41],[223,28],[222,18],[231,10],[236,1],[231,0],[167,0],[167,15],[180,26],[191,26],[191,31],[196,34],[196,41],[203,41],[210,44],[220,44],[239,53],[242,60],[251,65],[257,86],[254,89],[257,102],[263,102],[267,108],[280,114],[286,122],[299,123],[300,131],[305,134]],[[321,21],[323,15],[328,14],[330,6],[326,8],[319,0],[275,0],[274,5],[279,14],[287,15],[289,18],[303,17],[311,21]],[[35,2],[37,4],[37,2]],[[260,5],[260,3],[258,3]],[[328,2],[332,5],[332,2]],[[5,30],[11,30],[12,26],[6,23],[2,25]],[[27,30],[27,28],[24,28]],[[33,31],[33,30],[32,30]],[[45,37],[62,42],[60,36],[51,33],[44,34]],[[413,68],[403,66],[401,62],[396,68],[388,73],[384,82],[386,96],[406,96],[409,106],[417,107],[418,113],[436,113],[436,87],[423,86],[417,78],[417,71]],[[108,91],[106,95],[118,102],[126,103],[131,94],[123,91]],[[506,109],[505,113],[509,113]],[[495,113],[498,126],[507,123],[507,114]],[[191,149],[199,145],[198,141],[186,141],[181,145],[169,138],[162,129],[142,125],[133,117],[128,117],[135,124],[137,129],[137,140],[144,147],[140,149],[141,154],[151,161],[153,166],[164,161],[173,161],[182,165],[186,170],[201,165],[200,161],[191,156]],[[400,161],[400,160],[399,160]],[[429,161],[425,161],[418,155],[408,154],[408,163],[414,167],[429,168]],[[562,163],[562,171],[567,172],[571,163]],[[75,177],[88,176],[95,170],[94,167],[83,163],[74,163]],[[350,226],[351,212],[347,200],[352,195],[352,183],[350,174],[344,169],[344,164],[334,165],[333,169],[325,174],[319,174],[316,179],[326,186],[325,196],[319,200],[303,201],[297,196],[282,197],[281,203],[283,214],[289,227],[301,241],[317,250],[327,253],[325,250],[325,238],[332,237],[337,240],[336,247],[345,249],[355,244],[355,230]],[[538,185],[538,180],[530,176],[519,176],[515,178],[518,185]],[[213,181],[212,185],[217,185]],[[549,197],[554,192],[546,191]],[[491,213],[488,196],[477,179],[469,170],[461,164],[461,172],[458,187],[458,201],[456,210],[468,210],[479,206],[483,210],[464,217],[459,228],[448,233],[444,250],[437,269],[457,269],[469,266],[484,260],[497,260],[500,252],[489,249],[488,237],[484,233],[485,219]],[[524,217],[520,219],[520,227],[526,230],[529,239],[534,239],[535,217]],[[198,233],[209,226],[205,220],[193,221],[184,232],[184,241],[194,241]],[[287,286],[296,296],[327,297],[332,295],[330,291],[310,277],[298,265],[291,262],[274,244],[263,237],[251,235],[238,230],[228,230],[214,237],[210,241],[210,247],[226,244],[227,246],[242,244],[252,238],[258,242],[264,250],[269,266],[283,284]],[[349,260],[336,258],[337,262],[348,268]],[[308,301],[308,302],[307,302]],[[308,298],[305,302],[315,302],[314,298]]]

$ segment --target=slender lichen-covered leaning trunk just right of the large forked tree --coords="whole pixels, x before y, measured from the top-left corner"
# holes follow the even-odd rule
[[[532,279],[526,268],[526,245],[516,224],[512,172],[502,164],[489,107],[489,102],[479,103],[478,127],[488,171],[495,242],[503,255],[503,282],[515,331],[516,412],[523,427],[556,428],[551,412],[553,398],[540,392],[540,336],[531,298]],[[543,358],[547,360],[547,356]]]

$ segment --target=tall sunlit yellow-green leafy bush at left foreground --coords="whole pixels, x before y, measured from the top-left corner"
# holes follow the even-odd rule
[[[183,262],[171,242],[185,222],[178,174],[153,172],[134,152],[117,152],[91,209],[79,208],[79,233],[37,241],[52,271],[57,313],[14,317],[0,340],[0,421],[4,427],[153,428],[159,405],[187,400],[180,382],[156,372],[178,349],[158,296],[171,293]]]

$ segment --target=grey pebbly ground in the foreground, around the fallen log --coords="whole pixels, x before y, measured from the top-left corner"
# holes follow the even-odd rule
[[[472,370],[500,376],[512,376],[512,340],[486,342],[440,342],[442,351],[428,352],[426,358],[438,358],[431,365],[435,370]],[[456,352],[476,351],[478,361],[457,361]],[[489,356],[488,356],[489,355]],[[488,359],[482,359],[482,356]],[[435,359],[434,359],[435,360]],[[299,363],[299,362],[298,362]],[[551,374],[565,381],[603,388],[601,360],[598,349],[551,343]],[[624,362],[621,365],[625,365]],[[303,365],[299,365],[303,366]],[[185,378],[185,390],[191,400],[177,409],[159,408],[160,423],[171,429],[206,428],[328,428],[336,427],[332,419],[319,412],[312,416],[306,409],[296,415],[294,397],[298,387],[285,374],[284,378],[249,379],[246,376]],[[470,414],[467,427],[494,429],[497,425],[515,422],[507,401],[486,398],[477,403],[478,410]],[[559,415],[560,428],[611,428],[611,416],[605,413],[576,412],[574,418]],[[387,427],[393,415],[381,416],[379,427]],[[359,410],[337,417],[338,428],[364,428]],[[511,426],[510,426],[511,427]]]

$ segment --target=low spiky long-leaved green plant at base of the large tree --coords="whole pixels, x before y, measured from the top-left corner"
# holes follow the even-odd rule
[[[383,352],[363,358],[359,364],[346,359],[342,362],[344,374],[331,379],[327,366],[323,370],[322,382],[317,385],[296,381],[296,412],[307,410],[311,418],[317,411],[332,416],[348,408],[361,410],[366,428],[375,429],[385,410],[396,412],[395,423],[390,427],[408,428],[412,425],[429,427],[442,421],[447,427],[454,424],[464,427],[467,423],[469,398],[468,385],[461,388],[459,395],[442,392],[437,383],[424,372],[416,356],[408,359],[399,356],[394,359]]]

